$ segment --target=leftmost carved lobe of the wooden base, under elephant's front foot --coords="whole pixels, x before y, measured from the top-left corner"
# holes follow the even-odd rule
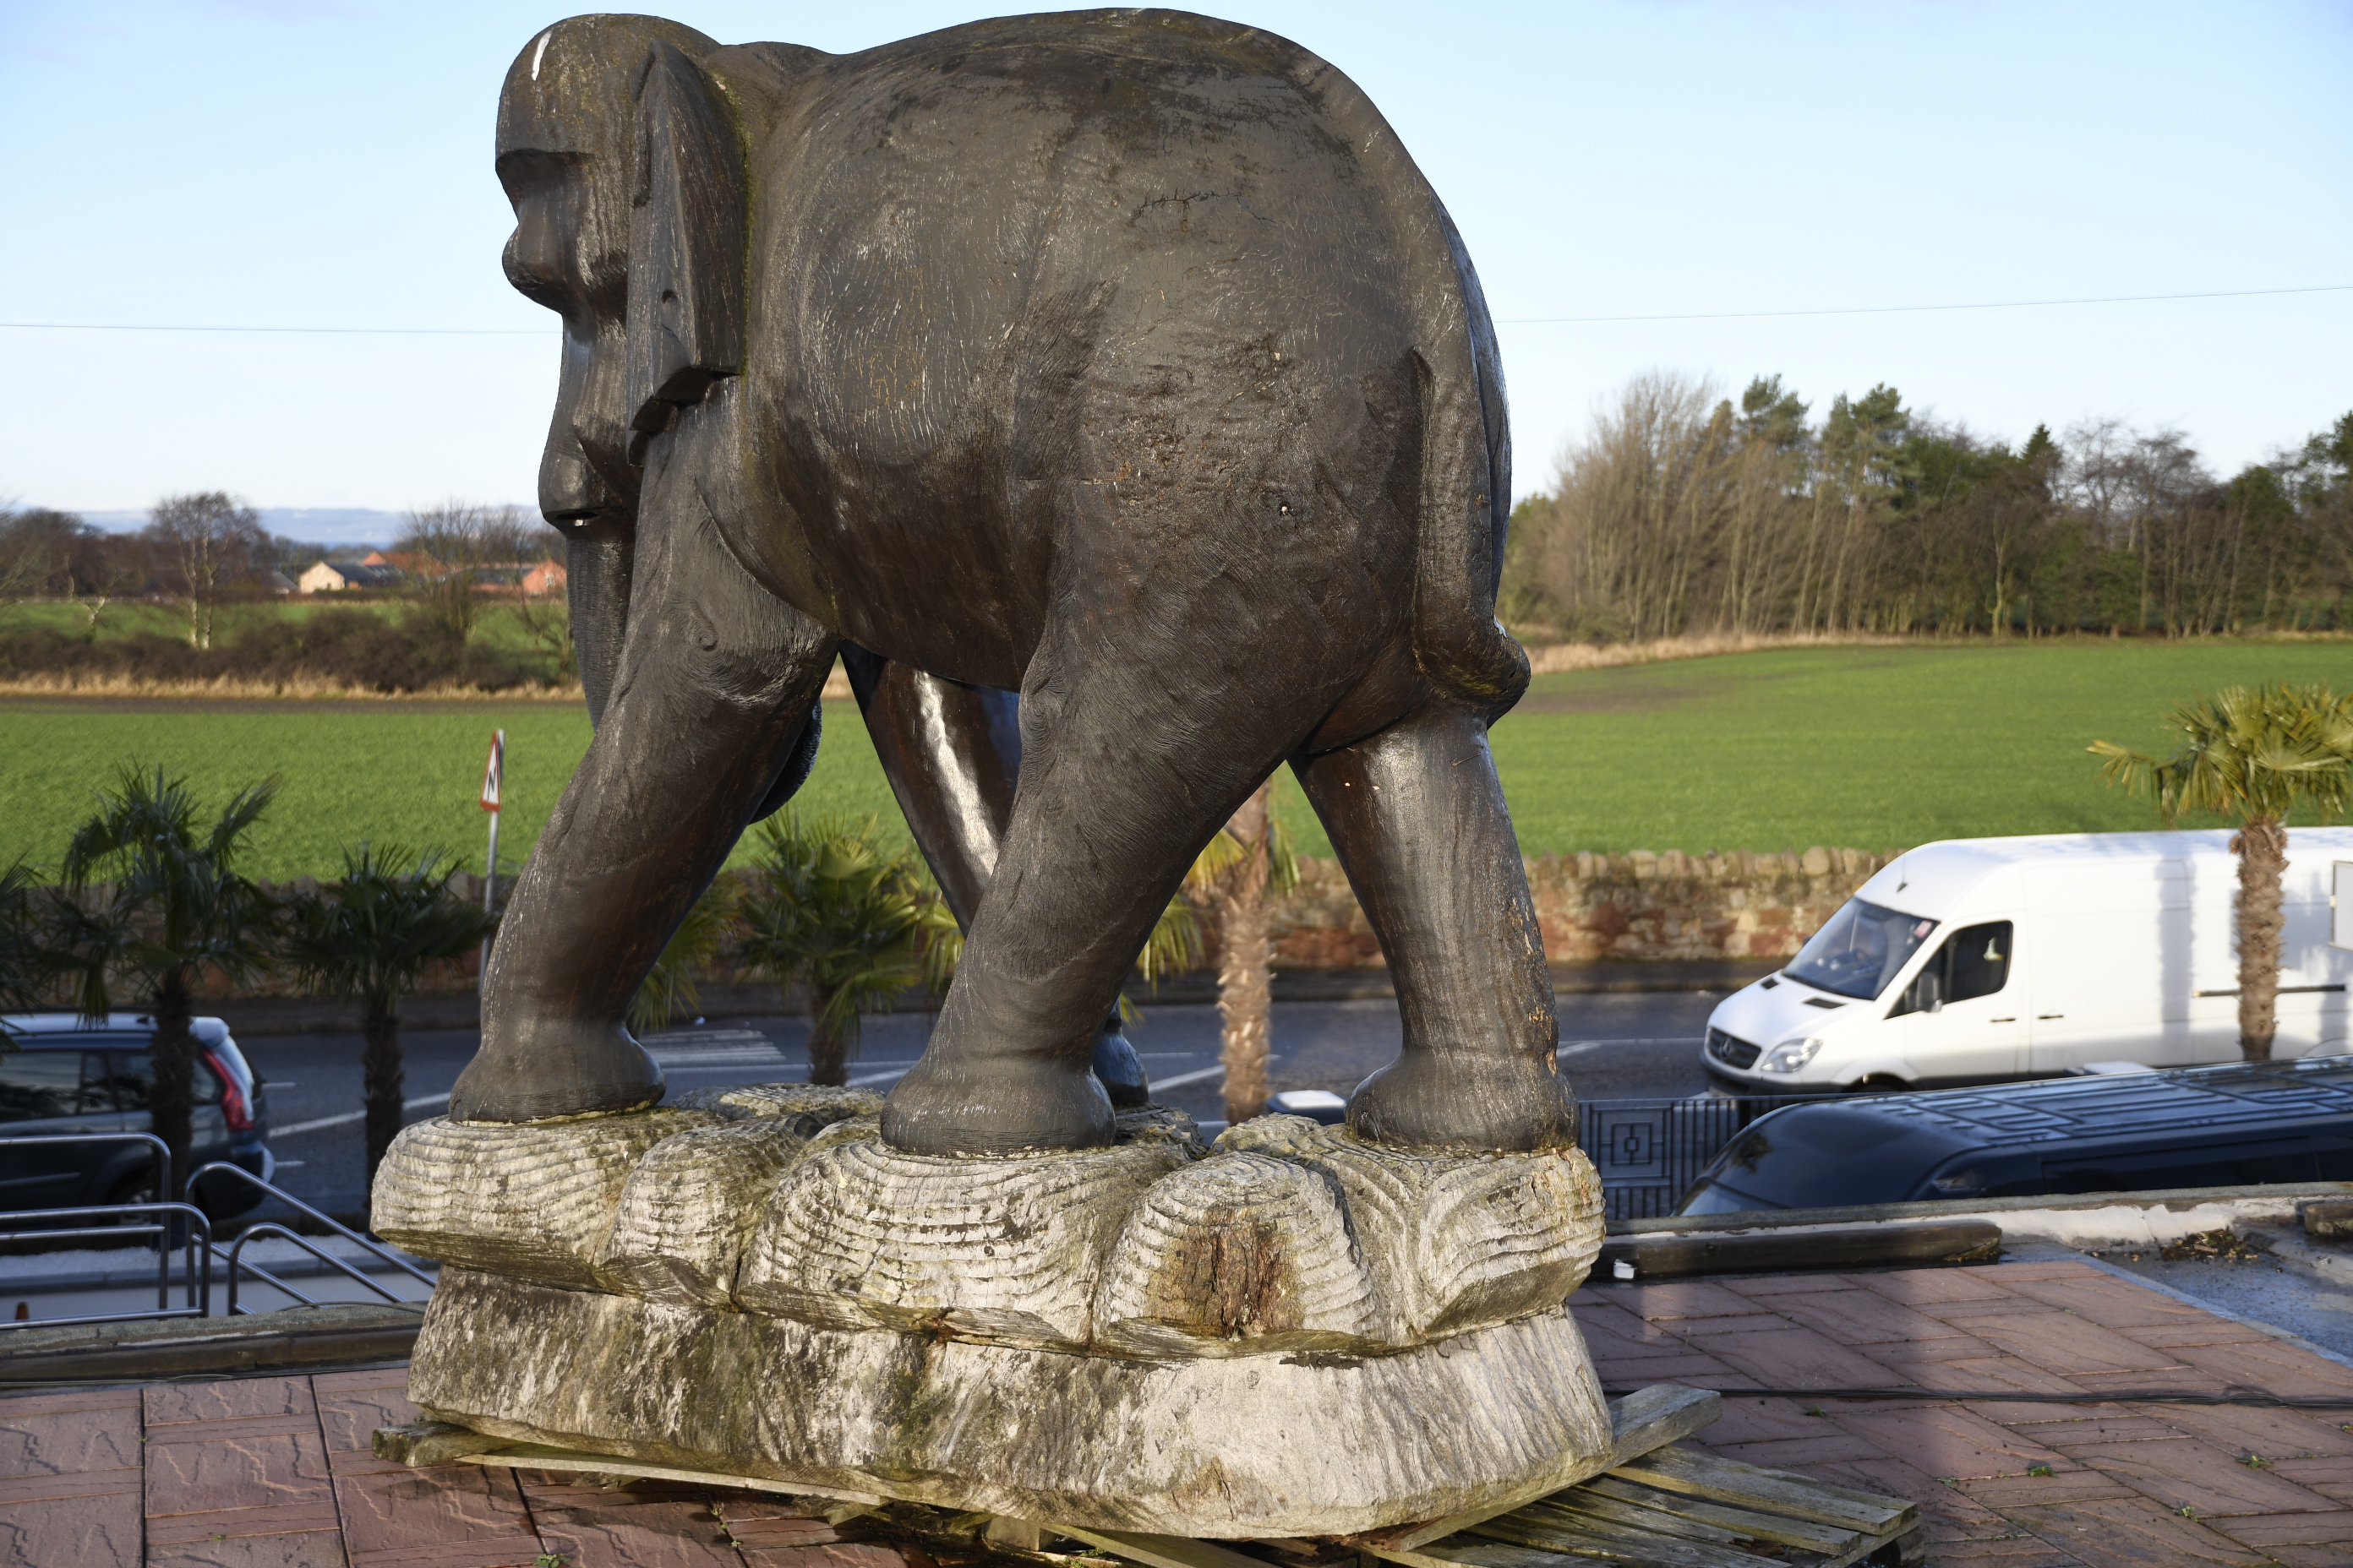
[[[713,1124],[701,1110],[529,1126],[433,1117],[386,1152],[372,1222],[419,1258],[593,1286],[628,1173],[664,1138]]]

